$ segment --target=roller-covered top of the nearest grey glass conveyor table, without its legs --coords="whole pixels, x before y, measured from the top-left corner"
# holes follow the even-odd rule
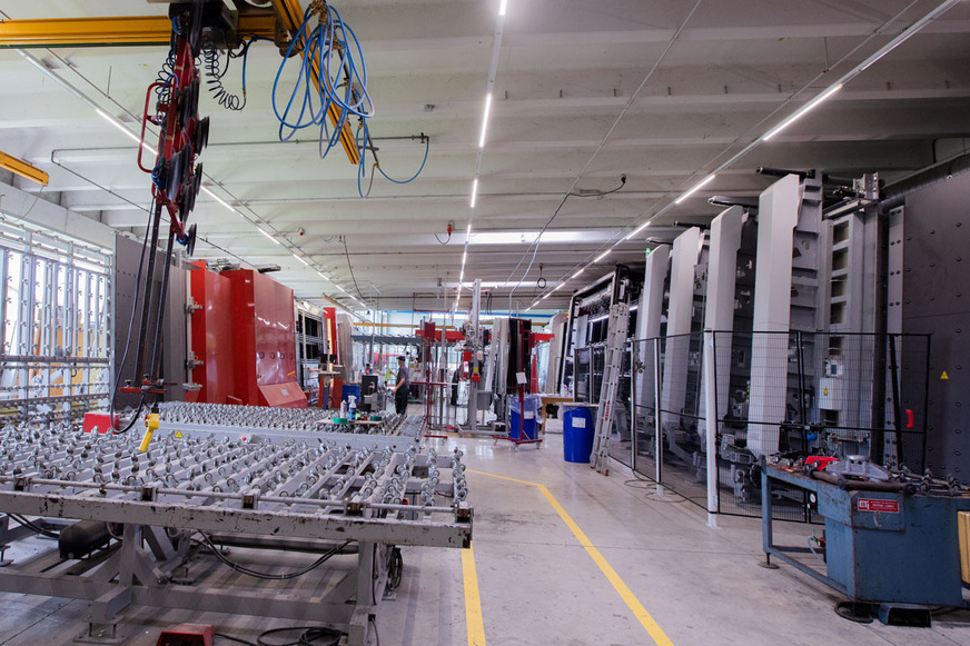
[[[234,443],[214,435],[166,436],[147,451],[139,443],[136,434],[8,425],[0,439],[0,509],[115,523],[145,523],[129,511],[146,503],[159,514],[258,509],[267,524],[279,515],[394,524],[394,510],[418,523],[432,515],[469,518],[458,450],[437,456],[434,449],[420,455],[416,447],[353,448],[334,439]],[[445,469],[452,469],[451,481],[442,476]]]

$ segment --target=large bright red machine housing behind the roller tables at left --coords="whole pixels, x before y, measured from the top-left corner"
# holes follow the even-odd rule
[[[251,269],[191,272],[192,351],[201,360],[189,401],[306,408],[296,380],[293,290]]]

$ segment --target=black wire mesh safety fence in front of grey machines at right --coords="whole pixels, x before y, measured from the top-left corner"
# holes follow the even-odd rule
[[[611,456],[705,508],[709,481],[716,483],[712,510],[753,517],[761,515],[762,456],[864,455],[921,471],[929,344],[926,335],[841,332],[635,340],[625,400],[632,414],[617,415]],[[705,359],[712,361],[706,375]],[[716,478],[710,479],[709,405],[716,419]],[[774,517],[816,521],[805,496],[780,488]]]

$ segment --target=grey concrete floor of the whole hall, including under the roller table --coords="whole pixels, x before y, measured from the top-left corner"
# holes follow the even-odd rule
[[[550,431],[557,428],[552,420]],[[832,608],[840,597],[832,590],[790,567],[758,567],[758,520],[721,517],[719,527],[710,528],[696,506],[673,494],[659,497],[653,485],[633,479],[623,467],[603,476],[564,461],[562,435],[550,433],[541,447],[469,438],[432,441],[448,450],[462,447],[473,471],[474,557],[489,645],[655,643],[542,490],[525,483],[548,489],[676,646],[970,645],[968,612],[941,615],[929,629],[838,617]],[[791,524],[780,530],[791,544],[804,544],[811,531]],[[468,644],[462,553],[403,553],[402,585],[377,617],[380,646]],[[306,557],[293,558],[296,565]],[[0,645],[70,644],[88,612],[85,602],[0,595]],[[215,624],[246,639],[290,624],[130,608],[119,634],[128,644],[148,646],[159,630],[182,622]],[[216,639],[222,644],[230,642]]]

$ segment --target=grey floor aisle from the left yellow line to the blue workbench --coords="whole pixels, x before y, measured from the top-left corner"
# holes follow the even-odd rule
[[[552,420],[550,429],[556,427]],[[839,618],[832,608],[841,598],[833,590],[790,567],[758,567],[759,520],[720,517],[720,527],[709,528],[700,508],[675,494],[659,498],[652,483],[631,480],[622,467],[607,477],[564,461],[561,435],[550,434],[538,449],[488,440],[447,444],[463,447],[473,471],[474,555],[487,644],[970,644],[970,612],[941,616],[931,629]],[[546,487],[622,579],[618,587],[646,610],[643,623],[543,491],[504,478]],[[792,544],[811,533],[794,524],[776,525],[775,531]],[[428,637],[433,644],[462,643]],[[383,645],[410,643],[385,643],[382,630]]]

